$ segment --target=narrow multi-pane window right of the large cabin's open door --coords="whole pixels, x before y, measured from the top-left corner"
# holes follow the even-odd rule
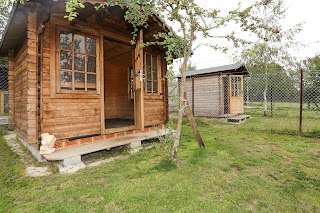
[[[155,94],[158,93],[159,80],[158,80],[158,56],[145,53],[143,57],[144,72],[143,83],[144,93]]]

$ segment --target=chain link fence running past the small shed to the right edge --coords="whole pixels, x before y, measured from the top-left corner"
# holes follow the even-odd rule
[[[319,134],[320,71],[303,70],[303,82],[300,74],[272,70],[250,76],[196,76],[187,78],[186,91],[196,117],[226,118],[244,113],[261,119],[261,125],[251,128],[275,132],[299,132],[301,100],[302,131]],[[169,88],[171,113],[177,113],[179,87],[180,80],[175,79]]]

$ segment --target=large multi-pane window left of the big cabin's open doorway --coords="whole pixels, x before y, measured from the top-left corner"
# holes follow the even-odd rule
[[[60,31],[60,89],[97,91],[97,40]]]

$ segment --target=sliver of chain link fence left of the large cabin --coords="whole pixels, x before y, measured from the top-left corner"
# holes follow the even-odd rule
[[[0,132],[8,128],[8,67],[0,65]]]

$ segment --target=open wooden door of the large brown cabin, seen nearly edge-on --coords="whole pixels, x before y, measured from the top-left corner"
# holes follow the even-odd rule
[[[139,32],[139,38],[134,51],[134,70],[135,70],[135,95],[134,111],[135,125],[138,129],[144,130],[144,101],[143,101],[143,30]]]

